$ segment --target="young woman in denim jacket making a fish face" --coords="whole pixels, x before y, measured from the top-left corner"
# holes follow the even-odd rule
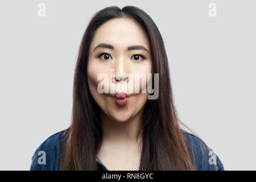
[[[152,77],[134,86],[130,73]],[[158,27],[137,7],[106,7],[81,41],[71,126],[37,148],[31,170],[224,170],[180,124]]]

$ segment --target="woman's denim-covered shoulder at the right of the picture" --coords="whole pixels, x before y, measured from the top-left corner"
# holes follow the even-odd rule
[[[189,154],[196,166],[196,170],[224,171],[224,166],[217,154],[208,147],[199,137],[183,130]]]

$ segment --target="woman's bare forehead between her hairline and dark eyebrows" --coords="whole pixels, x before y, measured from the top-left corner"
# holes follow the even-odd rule
[[[102,24],[94,35],[90,47],[100,43],[111,44],[114,48],[141,45],[150,49],[146,31],[141,24],[130,18],[114,18]]]

